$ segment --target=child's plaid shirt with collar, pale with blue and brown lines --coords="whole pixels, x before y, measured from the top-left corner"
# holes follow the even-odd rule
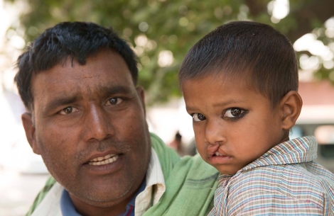
[[[234,176],[220,175],[213,215],[334,215],[334,174],[315,137],[276,145]]]

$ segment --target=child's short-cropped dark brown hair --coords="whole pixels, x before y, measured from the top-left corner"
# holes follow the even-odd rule
[[[274,108],[289,91],[298,89],[296,53],[288,38],[270,25],[235,21],[213,30],[188,52],[178,74],[188,79],[220,73],[245,78],[269,98]]]

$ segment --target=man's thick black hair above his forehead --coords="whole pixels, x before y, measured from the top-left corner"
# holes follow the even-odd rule
[[[131,72],[134,84],[138,79],[136,55],[125,40],[111,28],[95,23],[64,22],[48,28],[28,45],[18,57],[18,73],[14,81],[24,106],[33,110],[31,77],[71,58],[83,65],[87,57],[102,49],[110,49],[121,55]]]

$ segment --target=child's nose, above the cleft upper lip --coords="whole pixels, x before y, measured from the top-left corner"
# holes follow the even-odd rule
[[[205,125],[205,142],[222,144],[226,141],[225,128],[221,120],[207,120]]]

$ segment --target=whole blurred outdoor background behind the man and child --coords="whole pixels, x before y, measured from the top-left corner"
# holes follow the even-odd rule
[[[267,23],[293,42],[303,109],[291,137],[315,135],[317,161],[334,171],[333,0],[0,0],[0,215],[24,215],[48,178],[26,142],[25,109],[13,83],[28,42],[61,21],[114,28],[139,56],[149,129],[183,156],[195,147],[178,68],[195,42],[236,20]]]

